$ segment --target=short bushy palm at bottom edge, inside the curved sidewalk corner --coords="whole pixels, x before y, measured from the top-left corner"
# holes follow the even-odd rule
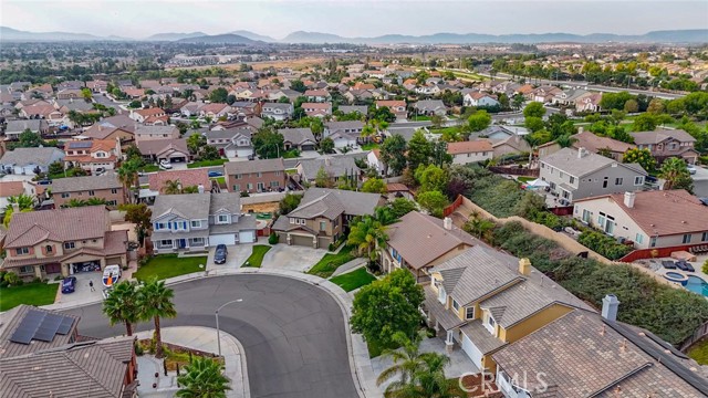
[[[211,358],[195,357],[185,369],[186,374],[177,376],[177,383],[184,386],[177,397],[223,398],[231,389],[231,380],[221,373],[221,364]]]

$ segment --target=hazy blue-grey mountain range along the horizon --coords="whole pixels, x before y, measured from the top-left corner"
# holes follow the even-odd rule
[[[27,32],[0,27],[2,41],[134,41],[118,36],[98,36],[88,33]],[[374,38],[344,38],[332,33],[296,31],[283,39],[238,30],[225,34],[209,35],[204,32],[157,33],[142,41],[179,41],[185,43],[228,43],[263,45],[266,43],[355,43],[355,44],[475,44],[475,43],[706,43],[708,29],[653,31],[645,34],[613,33],[540,33],[540,34],[483,34],[483,33],[435,33],[428,35],[385,34]]]

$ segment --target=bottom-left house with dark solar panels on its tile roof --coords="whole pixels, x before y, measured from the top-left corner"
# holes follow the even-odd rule
[[[79,316],[24,304],[0,317],[0,396],[136,396],[135,336],[85,337]]]

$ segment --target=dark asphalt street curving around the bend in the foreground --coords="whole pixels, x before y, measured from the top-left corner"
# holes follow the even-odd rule
[[[252,397],[357,397],[342,311],[320,287],[274,275],[230,275],[173,289],[178,315],[163,320],[163,326],[216,327],[215,310],[243,300],[219,312],[219,326],[246,349]],[[69,312],[81,316],[83,335],[125,333],[123,325],[108,325],[100,304]]]

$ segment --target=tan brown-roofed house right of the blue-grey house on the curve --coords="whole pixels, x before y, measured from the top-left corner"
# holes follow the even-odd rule
[[[384,202],[378,193],[310,188],[300,206],[280,216],[272,230],[282,243],[327,248],[346,233],[354,217],[373,214]]]

